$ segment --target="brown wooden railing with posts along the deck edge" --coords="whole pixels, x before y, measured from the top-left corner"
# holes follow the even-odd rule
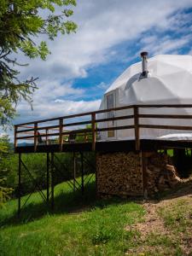
[[[32,140],[34,144],[34,152],[37,151],[39,137],[45,138],[44,143],[49,144],[49,137],[57,137],[55,143],[57,143],[62,151],[64,138],[70,134],[76,134],[79,136],[89,135],[91,137],[92,150],[96,149],[96,137],[97,132],[99,131],[118,131],[126,129],[134,129],[135,131],[135,148],[136,150],[140,149],[140,129],[141,128],[150,128],[150,129],[168,129],[168,130],[184,130],[192,131],[192,126],[183,126],[183,125],[148,125],[141,124],[140,119],[192,119],[192,115],[189,114],[152,114],[152,113],[140,113],[141,108],[191,108],[192,105],[134,105],[134,106],[125,106],[120,108],[110,108],[98,110],[95,112],[87,113],[77,113],[67,116],[62,116],[59,118],[53,119],[41,119],[33,122],[27,122],[19,125],[15,125],[15,148],[18,145],[19,140]],[[114,116],[110,118],[98,118],[100,113],[118,113],[122,110],[131,109],[132,113]],[[107,114],[106,114],[107,116]],[[76,120],[72,122],[67,122],[70,119],[81,119],[86,118],[86,120]],[[108,123],[108,121],[118,121],[132,119],[132,125],[113,125],[113,127],[104,127],[99,128],[99,123]],[[50,122],[54,122],[54,125],[48,125]],[[55,122],[57,124],[55,124]],[[47,125],[44,125],[47,123]],[[87,125],[87,127],[79,128],[79,125]],[[66,130],[68,127],[77,127],[73,130]],[[41,131],[41,132],[40,132]],[[21,136],[20,136],[21,135]],[[23,136],[24,135],[24,136]]]

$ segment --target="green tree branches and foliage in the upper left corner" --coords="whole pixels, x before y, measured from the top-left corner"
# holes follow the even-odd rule
[[[73,15],[76,0],[1,0],[0,3],[0,124],[15,115],[21,99],[32,102],[36,79],[20,80],[16,54],[46,59],[49,49],[45,41],[35,38],[46,35],[50,40],[61,34],[75,32]]]

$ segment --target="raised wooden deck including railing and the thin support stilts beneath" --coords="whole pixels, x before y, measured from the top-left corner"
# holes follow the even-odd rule
[[[141,108],[192,108],[192,105],[139,105],[139,106],[125,106],[122,108],[111,108],[105,110],[99,110],[96,112],[89,113],[78,113],[68,116],[62,116],[53,119],[36,120],[24,124],[15,125],[15,153],[19,154],[18,160],[18,214],[26,202],[32,195],[26,198],[26,201],[21,201],[22,191],[22,172],[27,172],[29,178],[31,178],[34,188],[38,189],[42,199],[46,202],[49,207],[49,201],[51,208],[54,209],[54,188],[55,188],[55,177],[61,175],[60,169],[57,168],[57,156],[55,153],[59,152],[73,152],[73,182],[68,181],[73,191],[81,189],[82,195],[84,194],[84,163],[88,163],[85,159],[84,152],[148,152],[157,149],[168,149],[168,148],[192,148],[192,141],[165,141],[165,140],[147,140],[141,138],[141,129],[168,129],[168,130],[180,130],[180,131],[191,131],[191,126],[183,126],[184,122],[177,122],[180,125],[148,125],[148,121],[142,122],[141,119],[192,119],[192,115],[189,114],[161,114],[158,111],[155,114],[145,113],[141,114]],[[131,109],[130,111],[125,111]],[[125,115],[118,113],[120,110],[124,110]],[[104,116],[99,116],[99,113],[105,113]],[[128,114],[129,113],[129,114]],[[131,113],[131,114],[130,114]],[[166,111],[164,112],[166,113]],[[167,111],[168,113],[168,111]],[[105,117],[105,118],[103,118]],[[119,126],[116,122],[118,120],[131,119],[131,125]],[[113,124],[108,126],[108,122]],[[105,125],[100,126],[99,124],[104,123]],[[128,122],[127,122],[128,123]],[[122,123],[121,123],[122,124]],[[155,124],[155,122],[154,122]],[[181,125],[182,124],[182,125]],[[101,128],[102,127],[102,128]],[[104,128],[103,128],[104,127]],[[101,141],[99,132],[108,131],[119,131],[131,129],[135,135],[133,140],[113,140],[113,141]],[[20,143],[28,143],[21,146]],[[76,153],[78,152],[78,153]],[[32,153],[46,153],[46,195],[39,184],[38,180],[35,180],[32,176],[32,170],[22,160],[22,154]],[[79,154],[80,153],[80,154]],[[76,179],[76,157],[80,155],[80,172],[81,172],[81,183],[79,184]],[[143,155],[142,159],[143,159]],[[91,168],[96,170],[96,165],[91,164]],[[144,188],[147,184],[146,166],[145,160],[142,161],[143,168],[143,195]],[[58,173],[57,173],[58,172]],[[95,171],[96,172],[96,171]],[[79,184],[77,188],[77,183]],[[97,176],[96,176],[96,188],[97,188]]]

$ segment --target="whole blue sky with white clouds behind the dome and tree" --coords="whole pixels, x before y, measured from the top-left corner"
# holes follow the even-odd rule
[[[99,108],[108,86],[132,63],[149,55],[192,55],[191,0],[79,0],[75,34],[48,42],[47,61],[27,60],[21,77],[38,77],[33,111],[17,107],[14,123],[47,119]],[[38,38],[40,40],[41,38]]]

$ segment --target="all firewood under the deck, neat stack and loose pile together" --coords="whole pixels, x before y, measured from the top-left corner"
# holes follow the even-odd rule
[[[147,191],[150,196],[181,182],[171,158],[155,152],[97,153],[96,173],[99,195],[143,195]]]

